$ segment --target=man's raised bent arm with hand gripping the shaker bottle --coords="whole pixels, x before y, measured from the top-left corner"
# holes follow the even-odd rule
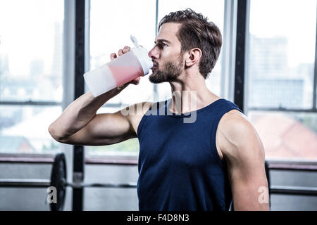
[[[129,50],[128,47],[120,49],[118,55]],[[115,53],[111,54],[111,59],[113,58],[116,58]],[[97,98],[94,98],[90,92],[83,94],[68,105],[60,117],[49,126],[49,133],[61,143],[91,146],[118,143],[136,137],[130,115],[123,115],[120,111],[97,115],[97,110],[125,89],[128,84],[138,83],[139,77]]]

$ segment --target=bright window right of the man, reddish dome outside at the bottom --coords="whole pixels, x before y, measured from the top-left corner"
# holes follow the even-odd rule
[[[250,1],[245,113],[268,160],[317,160],[316,2]]]

